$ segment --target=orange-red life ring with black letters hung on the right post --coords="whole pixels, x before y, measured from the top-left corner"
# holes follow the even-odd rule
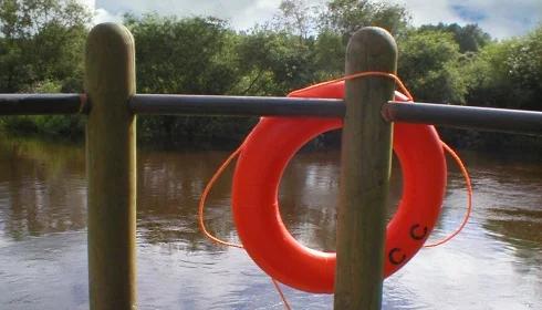
[[[290,95],[342,99],[344,82]],[[406,99],[397,93],[397,100]],[[306,142],[342,127],[341,118],[262,117],[243,143],[233,176],[233,219],[256,264],[274,279],[310,292],[334,290],[335,254],[299,244],[282,223],[278,192],[288,162]],[[446,187],[446,162],[432,126],[395,124],[394,151],[403,169],[403,197],[387,225],[387,277],[404,266],[432,230]]]

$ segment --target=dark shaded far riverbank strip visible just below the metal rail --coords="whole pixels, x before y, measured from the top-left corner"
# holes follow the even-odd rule
[[[138,143],[156,149],[233,149],[240,145],[257,117],[138,117]],[[4,116],[0,133],[17,137],[83,143],[86,118],[79,115]],[[198,128],[198,130],[190,130]],[[522,153],[542,156],[542,137],[507,133],[437,127],[444,142],[458,149]],[[317,136],[303,149],[338,149],[341,132]]]

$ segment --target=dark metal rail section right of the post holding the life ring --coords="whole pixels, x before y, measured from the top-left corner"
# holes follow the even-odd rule
[[[384,104],[382,114],[389,122],[542,135],[542,112],[534,111],[388,102]]]

